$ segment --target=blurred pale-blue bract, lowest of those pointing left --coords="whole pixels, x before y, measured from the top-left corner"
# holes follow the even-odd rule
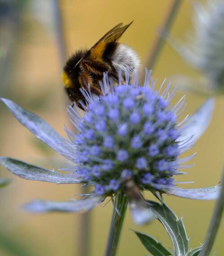
[[[86,212],[91,210],[97,204],[101,203],[101,196],[93,196],[87,199],[73,201],[57,202],[46,200],[33,200],[24,205],[24,209],[29,212]]]

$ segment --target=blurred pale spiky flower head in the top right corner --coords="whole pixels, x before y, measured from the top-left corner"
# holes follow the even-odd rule
[[[206,6],[194,3],[194,35],[188,44],[174,48],[208,79],[207,86],[224,90],[224,4],[208,0]]]

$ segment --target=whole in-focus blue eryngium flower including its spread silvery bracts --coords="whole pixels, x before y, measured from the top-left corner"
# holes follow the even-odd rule
[[[151,211],[144,198],[132,198],[128,191],[129,182],[139,194],[149,190],[155,196],[173,194],[190,199],[215,199],[220,187],[181,189],[174,180],[181,175],[185,164],[194,157],[181,158],[181,154],[194,144],[207,128],[214,106],[207,100],[192,115],[180,123],[177,118],[185,108],[185,97],[170,106],[174,91],[169,93],[170,84],[165,81],[158,90],[146,74],[143,87],[134,78],[129,83],[119,78],[118,86],[108,81],[107,75],[101,84],[103,95],[98,98],[82,90],[88,103],[84,104],[86,115],[82,118],[72,107],[68,108],[72,123],[78,134],[68,132],[66,140],[53,130],[43,119],[22,109],[16,103],[2,99],[17,120],[28,128],[39,140],[71,161],[63,171],[54,172],[8,157],[0,163],[14,174],[29,180],[54,183],[83,183],[93,190],[84,199],[70,202],[35,200],[26,205],[33,212],[90,210],[106,197],[123,191],[129,198],[134,221],[143,224],[151,219]],[[141,194],[140,194],[141,195]]]

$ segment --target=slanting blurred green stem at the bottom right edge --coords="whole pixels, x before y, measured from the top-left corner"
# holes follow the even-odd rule
[[[211,252],[211,248],[215,242],[215,237],[218,232],[220,222],[222,219],[222,214],[224,210],[224,170],[222,174],[222,187],[220,191],[219,198],[216,200],[215,203],[215,210],[211,217],[210,226],[207,231],[207,235],[205,238],[205,242],[202,246],[202,250],[198,256],[209,256]]]

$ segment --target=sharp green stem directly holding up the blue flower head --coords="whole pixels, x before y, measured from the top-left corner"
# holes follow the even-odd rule
[[[108,245],[105,252],[105,256],[115,256],[116,250],[121,234],[121,228],[123,225],[123,221],[125,218],[125,212],[127,209],[128,199],[121,191],[119,194],[115,196],[115,206],[113,209],[111,227],[108,237]],[[119,211],[120,215],[117,213]]]

